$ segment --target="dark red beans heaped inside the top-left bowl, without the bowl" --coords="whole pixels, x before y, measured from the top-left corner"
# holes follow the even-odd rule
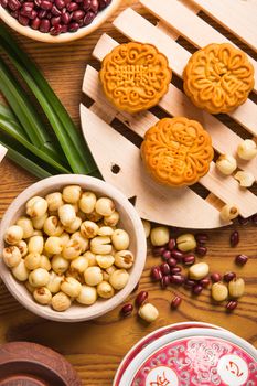
[[[0,0],[20,24],[51,35],[76,32],[93,22],[111,0]]]

